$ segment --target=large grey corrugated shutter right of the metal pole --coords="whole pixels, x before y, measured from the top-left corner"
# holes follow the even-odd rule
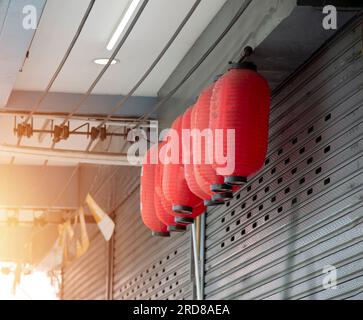
[[[207,299],[362,296],[362,72],[360,21],[274,96],[265,167],[207,217]]]

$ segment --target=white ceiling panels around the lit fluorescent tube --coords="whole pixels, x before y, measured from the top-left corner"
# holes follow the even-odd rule
[[[135,95],[156,96],[226,0],[203,0],[165,57]],[[160,53],[195,0],[150,0],[111,66],[94,90],[98,94],[125,94]],[[69,60],[53,86],[54,92],[85,92],[101,66],[93,59],[110,56],[106,45],[128,0],[96,1]],[[88,0],[48,0],[36,32],[30,57],[15,89],[43,90],[62,59],[89,4]]]

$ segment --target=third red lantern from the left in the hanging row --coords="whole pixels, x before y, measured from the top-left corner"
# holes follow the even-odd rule
[[[168,133],[165,146],[161,149],[161,152],[164,152],[164,148],[166,148],[168,150],[167,154],[170,156],[170,163],[164,163],[163,165],[162,187],[165,198],[173,205],[174,215],[179,217],[177,222],[186,224],[192,223],[194,218],[201,214],[198,210],[202,204],[202,199],[190,191],[185,180],[182,162],[181,127],[182,117],[179,116],[174,121],[172,130]]]

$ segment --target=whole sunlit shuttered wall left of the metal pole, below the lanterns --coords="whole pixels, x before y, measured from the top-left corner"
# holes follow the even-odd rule
[[[110,243],[94,230],[89,251],[64,269],[63,298],[191,299],[189,233],[151,237],[140,217],[140,169],[88,167],[81,174],[116,230]]]

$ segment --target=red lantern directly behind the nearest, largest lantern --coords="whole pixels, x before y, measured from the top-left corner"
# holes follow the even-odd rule
[[[211,84],[202,91],[191,115],[192,130],[196,130],[200,134],[199,144],[195,143],[193,145],[195,180],[203,192],[208,194],[205,199],[211,199],[215,192],[218,193],[218,200],[215,197],[214,201],[206,200],[204,202],[207,206],[223,204],[224,200],[233,197],[232,187],[224,183],[224,177],[217,175],[212,166],[214,137],[212,130],[209,128],[209,114],[213,88],[214,84]],[[212,152],[207,158],[209,151]]]

